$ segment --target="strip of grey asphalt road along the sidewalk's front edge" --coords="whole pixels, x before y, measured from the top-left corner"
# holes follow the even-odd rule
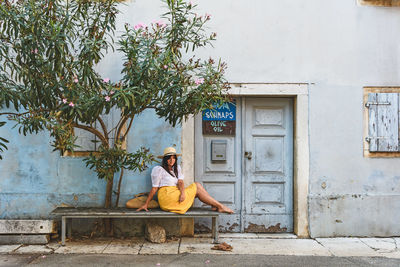
[[[266,255],[0,255],[0,266],[400,266],[400,259]]]

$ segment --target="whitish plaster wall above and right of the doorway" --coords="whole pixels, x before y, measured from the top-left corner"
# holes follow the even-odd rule
[[[364,158],[363,86],[400,85],[400,9],[356,0],[194,0],[212,14],[229,82],[312,83],[309,225],[317,236],[400,235],[400,159]],[[136,0],[120,25],[149,23],[158,0]],[[112,67],[104,63],[104,68]],[[325,182],[326,188],[321,184]]]

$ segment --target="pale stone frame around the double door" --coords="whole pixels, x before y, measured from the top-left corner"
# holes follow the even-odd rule
[[[292,97],[293,98],[293,231],[298,237],[308,238],[309,188],[309,83],[231,83],[229,94],[237,97]],[[182,123],[182,169],[185,183],[194,182],[194,117]],[[190,222],[187,222],[190,224]],[[187,226],[184,226],[187,227]]]

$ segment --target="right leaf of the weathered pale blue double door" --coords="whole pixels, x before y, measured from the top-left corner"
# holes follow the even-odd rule
[[[293,230],[293,110],[287,98],[247,98],[243,123],[245,232]],[[250,157],[248,155],[251,155]]]

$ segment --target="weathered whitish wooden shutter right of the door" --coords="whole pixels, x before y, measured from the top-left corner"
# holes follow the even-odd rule
[[[399,151],[399,94],[369,93],[368,110],[370,152]]]

